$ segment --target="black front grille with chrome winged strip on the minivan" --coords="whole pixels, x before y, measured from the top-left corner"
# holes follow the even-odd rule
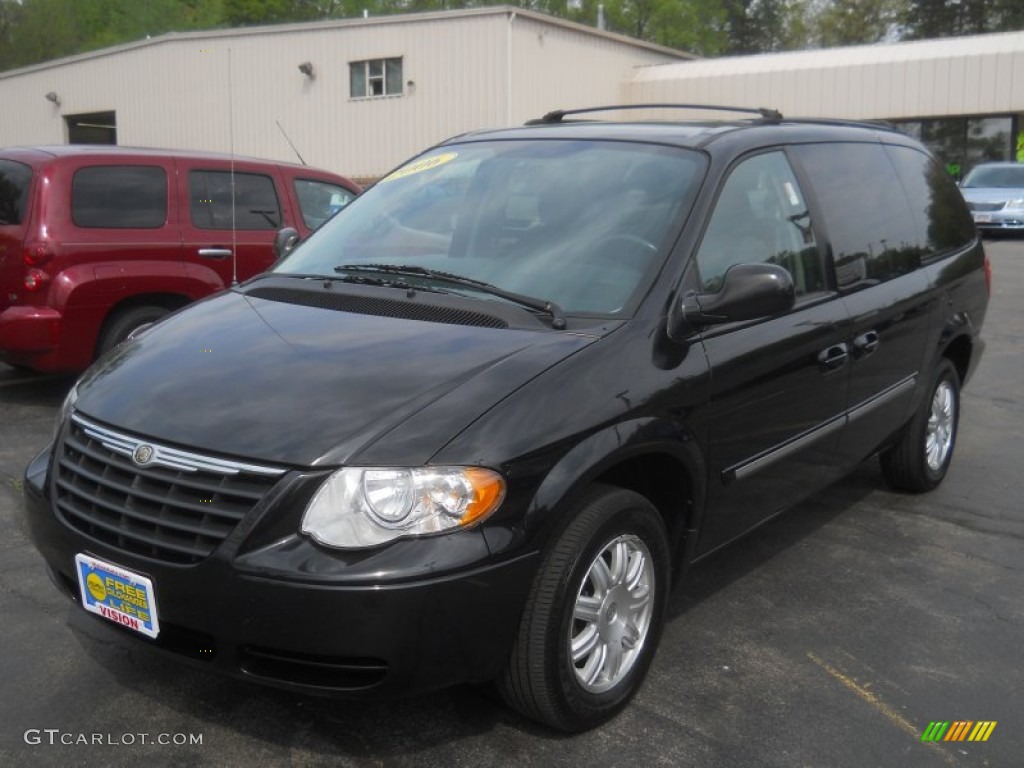
[[[171,449],[75,415],[57,454],[53,495],[58,517],[85,536],[191,564],[209,556],[284,473]]]

